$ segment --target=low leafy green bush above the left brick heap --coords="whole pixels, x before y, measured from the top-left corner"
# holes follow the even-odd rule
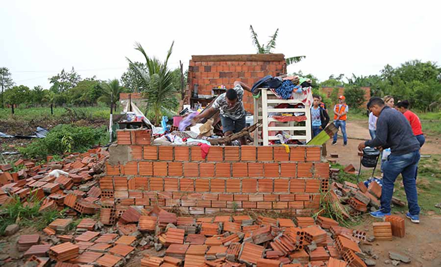
[[[104,126],[90,128],[60,124],[53,127],[46,138],[35,140],[28,146],[19,148],[19,151],[26,157],[38,159],[48,155],[61,155],[64,152],[84,152],[98,144],[105,135]]]

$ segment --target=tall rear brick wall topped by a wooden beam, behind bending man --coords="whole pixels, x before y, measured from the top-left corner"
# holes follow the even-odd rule
[[[232,88],[234,81],[242,81],[252,86],[266,75],[286,74],[286,61],[283,54],[250,55],[207,55],[192,56],[188,67],[188,98],[195,84],[198,95],[211,96],[211,90],[219,85]],[[245,92],[245,110],[253,113],[253,97]]]

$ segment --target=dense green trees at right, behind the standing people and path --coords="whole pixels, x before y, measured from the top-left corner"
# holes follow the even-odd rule
[[[438,111],[441,108],[441,67],[436,62],[410,60],[393,68],[386,65],[380,74],[345,77],[344,74],[330,75],[320,82],[313,74],[298,74],[312,80],[313,90],[320,92],[321,87],[334,87],[329,104],[335,103],[338,97],[338,87],[344,87],[344,95],[349,106],[365,109],[365,92],[361,87],[370,87],[370,95],[384,97],[391,95],[395,102],[409,100],[411,108],[418,111]],[[323,96],[323,95],[322,95]]]

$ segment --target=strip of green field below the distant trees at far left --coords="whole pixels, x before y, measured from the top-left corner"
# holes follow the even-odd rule
[[[70,109],[85,113],[90,116],[92,119],[108,119],[110,114],[110,109],[105,106],[97,106],[97,107],[69,107]],[[0,108],[0,120],[4,119],[18,119],[24,121],[30,121],[41,117],[48,118],[61,118],[66,115],[68,109],[64,107],[56,107],[53,108],[53,115],[50,115],[49,107],[37,107],[37,108],[16,108],[15,114],[11,114],[10,109]]]

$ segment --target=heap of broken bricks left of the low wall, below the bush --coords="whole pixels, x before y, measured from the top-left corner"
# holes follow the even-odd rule
[[[40,212],[67,206],[68,215],[95,214],[101,194],[96,178],[103,173],[108,157],[108,151],[98,147],[42,165],[19,159],[14,166],[20,170],[15,172],[11,164],[2,165],[0,205],[16,199],[32,204],[29,200],[33,199],[43,200]]]

